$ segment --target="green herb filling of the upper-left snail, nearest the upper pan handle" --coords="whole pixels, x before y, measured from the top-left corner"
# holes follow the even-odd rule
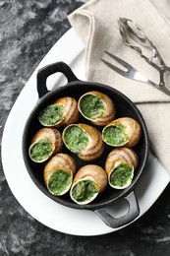
[[[39,114],[42,125],[52,126],[63,120],[63,105],[52,104],[45,107]]]

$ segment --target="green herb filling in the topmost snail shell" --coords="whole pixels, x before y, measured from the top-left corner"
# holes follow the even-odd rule
[[[93,120],[97,116],[102,116],[104,103],[99,96],[86,95],[81,99],[80,108],[85,117]]]

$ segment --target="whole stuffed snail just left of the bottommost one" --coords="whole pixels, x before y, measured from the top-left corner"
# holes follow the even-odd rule
[[[56,196],[67,193],[73,182],[77,165],[67,154],[59,153],[49,160],[44,167],[44,181],[49,192]]]

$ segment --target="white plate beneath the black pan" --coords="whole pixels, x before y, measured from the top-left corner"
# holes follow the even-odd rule
[[[68,43],[69,41],[69,43]],[[75,210],[64,207],[44,195],[28,175],[22,154],[22,137],[25,123],[38,96],[36,92],[37,70],[47,64],[64,61],[79,79],[85,80],[84,44],[71,29],[51,48],[28,80],[27,85],[16,100],[5,125],[2,138],[2,163],[7,182],[19,203],[41,224],[57,231],[74,235],[99,235],[116,231],[104,224],[92,211]],[[49,90],[66,83],[61,74],[50,76],[47,80]],[[10,158],[9,158],[10,156]],[[136,190],[141,214],[150,208],[169,183],[169,176],[163,166],[151,154],[145,174]],[[125,214],[127,204],[118,204],[108,211],[115,217]],[[137,220],[137,219],[136,219]]]

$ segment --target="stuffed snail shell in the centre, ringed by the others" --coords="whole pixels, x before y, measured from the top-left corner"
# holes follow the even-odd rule
[[[101,134],[90,125],[71,124],[64,129],[62,137],[65,146],[82,160],[96,160],[103,153]]]

